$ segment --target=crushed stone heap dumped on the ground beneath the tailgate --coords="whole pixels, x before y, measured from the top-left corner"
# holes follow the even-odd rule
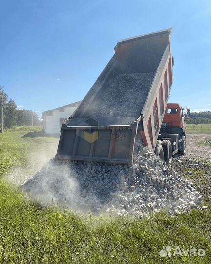
[[[45,204],[51,200],[76,211],[143,217],[152,210],[189,211],[202,196],[142,143],[131,167],[83,161],[51,160],[24,183]]]

